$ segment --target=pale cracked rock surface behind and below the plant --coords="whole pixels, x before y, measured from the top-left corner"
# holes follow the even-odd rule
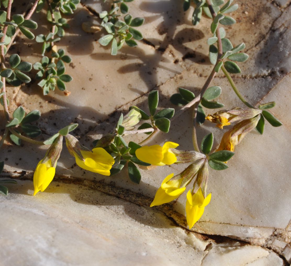
[[[182,9],[179,9],[179,1],[151,0],[129,3],[130,12],[134,16],[145,17],[145,24],[139,29],[143,32],[146,42],[140,41],[138,48],[122,48],[116,57],[112,57],[109,49],[95,42],[104,31],[87,34],[81,30],[81,23],[84,21],[94,21],[95,24],[100,22],[87,8],[100,12],[106,6],[106,3],[102,2],[82,1],[85,6],[80,4],[69,21],[69,36],[58,44],[73,58],[73,63],[67,68],[67,73],[74,77],[74,84],[68,83],[67,86],[71,91],[69,97],[64,97],[58,91],[50,92],[44,97],[36,83],[8,92],[14,99],[11,110],[22,104],[27,112],[36,108],[41,111],[42,119],[38,125],[43,129],[43,139],[56,133],[64,125],[78,122],[80,125],[73,134],[79,137],[84,145],[92,148],[91,142],[94,139],[112,130],[120,112],[126,113],[132,105],[147,108],[145,93],[148,91],[159,90],[159,108],[173,107],[177,110],[178,108],[168,101],[177,88],[187,88],[197,94],[210,73],[211,65],[207,57],[207,47],[204,45],[210,36],[210,20],[203,18],[197,27],[193,27],[190,20],[192,7],[184,15]],[[291,249],[288,243],[291,239],[291,170],[290,156],[288,152],[285,154],[285,150],[291,148],[288,141],[291,128],[288,119],[291,71],[288,39],[291,7],[287,1],[281,2],[275,5],[270,1],[245,1],[235,14],[238,23],[226,27],[226,31],[235,45],[242,41],[246,43],[246,50],[251,57],[247,62],[239,64],[242,74],[234,76],[235,83],[251,104],[276,101],[277,106],[272,112],[284,125],[273,128],[266,122],[263,136],[255,132],[250,133],[236,147],[236,155],[228,162],[230,167],[227,170],[210,169],[208,192],[212,193],[212,200],[205,208],[203,217],[192,228],[194,232],[227,236],[257,246],[244,246],[242,242],[229,241],[227,238],[223,238],[221,242],[224,244],[219,246],[210,239],[201,240],[199,234],[186,231],[185,195],[172,205],[157,207],[165,217],[162,213],[145,207],[150,204],[165,176],[172,172],[178,174],[185,165],[152,169],[143,167],[142,181],[136,185],[129,180],[126,171],[111,178],[104,178],[76,167],[74,158],[70,157],[64,148],[56,169],[55,180],[60,182],[59,187],[53,182],[45,192],[30,197],[33,184],[31,181],[25,181],[21,182],[21,188],[19,185],[9,186],[9,196],[5,199],[0,198],[4,202],[0,205],[1,212],[10,214],[11,210],[17,210],[15,213],[19,217],[11,229],[8,225],[12,217],[6,215],[8,220],[3,223],[7,228],[3,230],[6,232],[4,239],[8,241],[8,236],[14,235],[15,228],[18,228],[23,236],[23,242],[20,241],[19,245],[26,246],[32,241],[33,245],[39,248],[33,253],[23,248],[27,265],[31,265],[31,262],[36,263],[35,265],[72,264],[73,260],[77,261],[76,264],[81,264],[78,252],[88,254],[87,265],[96,260],[99,264],[116,264],[116,257],[120,256],[124,259],[124,265],[128,261],[133,264],[139,261],[139,265],[178,265],[181,264],[181,251],[177,251],[179,245],[183,247],[183,254],[187,254],[182,260],[185,263],[195,261],[202,265],[212,265],[213,261],[217,261],[220,265],[283,265],[283,260],[276,253],[259,246],[271,248],[290,262]],[[19,13],[25,10],[25,6],[18,8]],[[40,21],[42,14],[35,15],[33,19]],[[36,34],[42,31],[43,29],[38,29]],[[30,43],[31,46],[23,47],[20,42],[11,52],[20,51],[22,59],[29,62],[39,60],[39,44],[27,39],[22,41],[26,45],[27,42]],[[220,85],[223,88],[219,101],[224,103],[226,108],[242,106],[226,79],[221,77],[223,75],[219,73],[212,82],[212,85]],[[207,111],[212,113],[214,110]],[[108,118],[109,114],[111,115]],[[172,123],[172,131],[168,134],[159,133],[151,143],[162,144],[165,140],[171,140],[178,142],[180,149],[192,149],[190,121],[189,110]],[[210,130],[215,136],[215,148],[223,132],[210,123],[198,127],[198,142]],[[142,138],[144,136],[141,135],[125,137],[128,141]],[[4,155],[1,155],[7,159],[6,174],[31,179],[36,164],[45,154],[46,147],[36,148],[25,143],[25,149],[19,149],[10,143],[7,145],[9,152],[6,150]],[[82,183],[83,180],[85,183]],[[86,180],[97,182],[95,185],[89,185],[90,192],[88,189],[79,188],[79,183],[84,185]],[[187,188],[187,191],[190,188]],[[123,200],[102,192],[121,197]],[[22,209],[19,207],[20,202],[23,204]],[[132,211],[129,213],[144,213],[143,218],[138,218],[136,223],[135,218],[132,220],[132,215],[128,215],[126,208],[119,207],[124,204],[130,206],[128,209]],[[41,214],[42,210],[45,215]],[[22,219],[24,213],[29,213],[27,220]],[[88,221],[84,217],[89,217]],[[173,218],[175,224],[167,217]],[[96,219],[100,219],[97,225],[94,223]],[[38,227],[31,227],[34,223],[38,224]],[[113,225],[120,227],[121,233],[112,229],[115,228]],[[147,229],[141,238],[140,230],[145,230],[144,227]],[[25,231],[26,228],[28,232]],[[131,230],[134,232],[134,239],[128,237]],[[43,234],[44,231],[49,234]],[[79,251],[70,240],[68,242],[72,245],[71,248],[63,248],[67,239],[71,239],[72,232],[77,235],[79,245],[86,247],[84,250]],[[157,237],[157,234],[161,237]],[[190,240],[186,237],[189,235]],[[96,238],[101,239],[101,242],[97,243]],[[10,254],[13,244],[16,243],[16,235],[11,239],[12,242],[8,242],[12,243],[10,248],[2,252]],[[169,241],[165,242],[164,239]],[[146,241],[151,241],[150,248]],[[128,246],[128,252],[124,251],[124,243]],[[211,246],[207,247],[207,244]],[[3,245],[7,245],[7,242],[1,244]],[[137,248],[139,246],[142,246],[144,251]],[[47,248],[52,248],[53,257],[51,253],[40,255],[43,251],[47,252]],[[96,250],[102,254],[101,258]],[[109,261],[108,257],[113,259]],[[152,260],[149,260],[149,257]],[[8,256],[8,264],[15,263],[15,259]]]

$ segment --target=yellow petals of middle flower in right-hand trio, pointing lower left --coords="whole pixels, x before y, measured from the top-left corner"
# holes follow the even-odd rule
[[[184,191],[184,188],[180,188],[182,178],[177,180],[170,180],[174,174],[169,174],[162,182],[161,187],[157,190],[154,200],[150,204],[150,207],[162,205],[178,198]]]

